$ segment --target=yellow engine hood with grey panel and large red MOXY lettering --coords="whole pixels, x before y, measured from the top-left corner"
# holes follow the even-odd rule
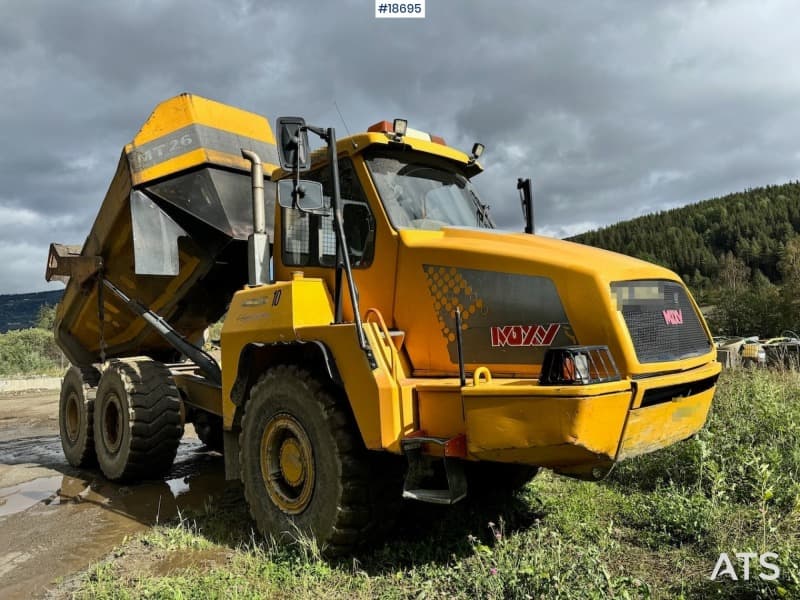
[[[470,370],[536,375],[549,347],[596,344],[609,347],[621,372],[664,367],[638,363],[611,284],[660,280],[683,289],[669,269],[522,233],[445,228],[399,237],[394,322],[416,373],[457,371],[456,307]]]

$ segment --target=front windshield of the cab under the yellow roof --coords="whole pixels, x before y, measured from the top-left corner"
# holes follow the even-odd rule
[[[450,161],[383,151],[367,155],[366,163],[395,229],[494,227],[475,188]]]

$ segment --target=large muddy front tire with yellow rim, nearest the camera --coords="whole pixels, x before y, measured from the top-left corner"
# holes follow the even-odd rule
[[[326,555],[346,553],[400,502],[394,457],[368,452],[346,400],[296,367],[274,367],[253,386],[239,448],[250,514],[266,536],[313,536]]]

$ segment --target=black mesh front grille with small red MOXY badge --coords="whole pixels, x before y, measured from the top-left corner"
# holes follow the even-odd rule
[[[674,281],[622,281],[611,284],[640,363],[699,356],[711,350],[685,288]]]

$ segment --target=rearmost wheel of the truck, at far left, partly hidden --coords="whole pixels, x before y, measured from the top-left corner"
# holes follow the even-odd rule
[[[96,373],[96,371],[95,371]],[[58,401],[58,429],[61,447],[67,462],[73,467],[96,464],[92,414],[94,412],[94,387],[96,378],[78,367],[70,367],[61,380]]]

